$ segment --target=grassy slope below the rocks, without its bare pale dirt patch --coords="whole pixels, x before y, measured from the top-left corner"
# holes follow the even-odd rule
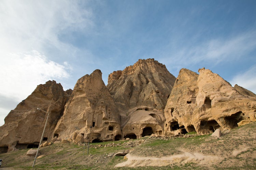
[[[217,155],[221,162],[210,165],[198,165],[195,163],[172,163],[164,167],[134,167],[120,169],[255,169],[256,167],[256,122],[246,124],[239,128],[223,133],[221,138],[210,135],[194,136],[189,138],[153,138],[144,137],[142,145],[130,147],[125,145],[127,141],[115,141],[124,143],[117,147],[100,147],[112,142],[93,143],[87,155],[87,147],[74,144],[54,144],[40,148],[43,158],[37,159],[34,169],[114,169],[118,163],[124,162],[122,156],[115,157],[114,153],[129,151],[137,156],[162,157],[186,152],[198,152],[204,155]],[[136,140],[132,140],[136,142]],[[247,148],[247,149],[246,149]],[[1,168],[31,169],[34,156],[26,156],[29,149],[0,154],[3,159]],[[240,150],[237,155],[233,151]],[[244,151],[241,151],[244,150]]]

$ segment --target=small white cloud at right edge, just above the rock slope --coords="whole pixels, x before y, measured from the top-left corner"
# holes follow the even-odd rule
[[[256,65],[253,65],[243,73],[237,74],[230,83],[232,86],[237,84],[256,94]]]

